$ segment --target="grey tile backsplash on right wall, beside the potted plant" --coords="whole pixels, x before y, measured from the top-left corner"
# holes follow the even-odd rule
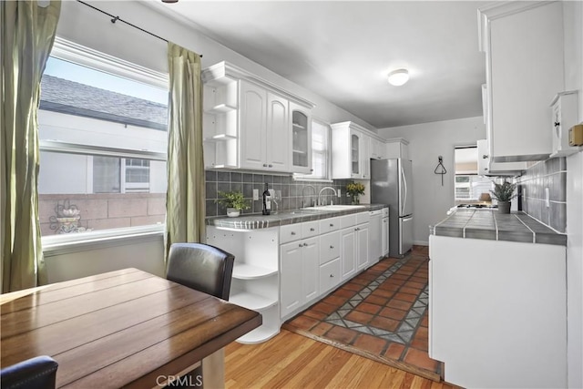
[[[559,231],[567,228],[567,159],[538,162],[518,179],[522,210]],[[548,190],[549,207],[545,203]]]

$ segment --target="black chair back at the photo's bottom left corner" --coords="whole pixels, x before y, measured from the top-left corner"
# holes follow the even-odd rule
[[[36,356],[0,370],[2,389],[55,389],[58,363],[50,356]]]

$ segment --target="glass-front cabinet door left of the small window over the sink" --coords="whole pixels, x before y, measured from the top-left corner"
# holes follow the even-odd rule
[[[292,171],[312,172],[312,120],[307,108],[290,102],[292,113]]]

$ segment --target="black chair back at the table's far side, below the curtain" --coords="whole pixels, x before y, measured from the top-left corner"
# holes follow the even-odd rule
[[[200,292],[229,300],[235,257],[203,243],[174,243],[166,278]]]

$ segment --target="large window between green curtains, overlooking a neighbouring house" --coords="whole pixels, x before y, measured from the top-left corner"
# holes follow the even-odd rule
[[[44,238],[161,226],[167,85],[166,75],[56,39],[38,112]]]

